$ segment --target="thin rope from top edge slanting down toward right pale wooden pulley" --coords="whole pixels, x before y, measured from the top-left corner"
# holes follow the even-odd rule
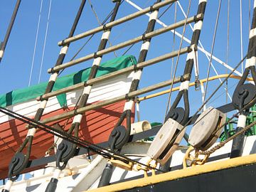
[[[219,0],[218,13],[217,13],[217,17],[216,17],[216,21],[215,21],[215,28],[214,28],[214,33],[213,33],[213,43],[212,43],[212,47],[211,47],[211,50],[210,50],[210,61],[209,61],[208,70],[207,70],[206,90],[205,90],[204,95],[203,95],[203,102],[206,100],[206,92],[207,92],[207,88],[208,88],[208,79],[209,79],[209,75],[210,75],[210,63],[212,62],[212,59],[213,59],[213,50],[214,50],[214,45],[215,45],[215,37],[216,37],[217,29],[218,29],[218,19],[219,19],[219,16],[220,16],[221,2],[222,2],[222,0]]]

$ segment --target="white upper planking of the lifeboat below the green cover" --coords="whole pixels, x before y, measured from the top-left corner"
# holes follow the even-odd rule
[[[92,86],[92,91],[90,93],[88,103],[109,100],[129,92],[133,73],[134,72],[119,75],[118,77],[112,78],[111,80],[105,80],[103,82],[96,83]],[[75,107],[75,104],[78,102],[78,98],[81,94],[82,89],[75,90],[74,92],[67,92],[66,99],[68,107]],[[36,100],[28,100],[26,102],[21,102],[6,108],[17,112],[18,114],[25,115],[26,117],[34,117],[39,105],[40,102]],[[46,109],[44,110],[43,114],[52,112],[54,110],[59,110],[60,108],[61,107],[57,98],[51,97],[47,102]],[[0,112],[0,123],[9,121],[11,119],[13,118]]]

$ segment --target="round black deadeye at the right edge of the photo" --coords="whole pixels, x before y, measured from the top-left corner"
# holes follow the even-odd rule
[[[232,103],[234,107],[240,110],[241,107],[248,105],[256,96],[256,86],[250,83],[239,85],[236,87],[235,92],[233,93]],[[255,105],[255,102],[251,102],[245,110],[250,109],[252,105]]]

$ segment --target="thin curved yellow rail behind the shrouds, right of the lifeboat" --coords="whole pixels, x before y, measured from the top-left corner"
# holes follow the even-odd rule
[[[219,79],[219,78],[227,78],[228,75],[229,75],[229,74],[215,75],[215,76],[213,76],[213,77],[211,77],[211,78],[208,78],[208,81],[216,80],[216,79]],[[230,75],[230,78],[238,79],[238,80],[241,79],[241,77],[238,76],[238,75]],[[200,80],[200,82],[201,82],[201,83],[204,83],[204,82],[206,82],[206,80],[207,80],[207,79],[203,79],[203,80]],[[247,78],[246,80],[247,80],[247,81],[252,81],[252,78]],[[192,87],[192,86],[194,86],[194,85],[195,85],[195,82],[189,83],[189,87]],[[178,86],[178,87],[174,87],[174,88],[169,89],[169,90],[164,90],[164,91],[161,91],[161,92],[156,92],[156,93],[151,94],[151,95],[146,95],[146,96],[144,96],[144,97],[140,97],[140,98],[138,99],[138,101],[141,102],[141,101],[144,101],[144,100],[149,100],[149,99],[151,99],[151,98],[158,97],[158,96],[160,96],[160,95],[164,95],[164,94],[166,94],[166,93],[169,93],[170,91],[177,91],[177,90],[179,90],[179,88],[180,88],[180,87]]]

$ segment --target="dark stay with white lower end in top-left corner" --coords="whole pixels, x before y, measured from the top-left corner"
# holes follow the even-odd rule
[[[4,56],[4,50],[6,48],[9,36],[11,34],[11,29],[14,26],[14,21],[15,21],[16,15],[18,13],[18,8],[19,8],[20,4],[21,4],[21,0],[17,0],[15,8],[14,8],[14,13],[11,16],[11,21],[10,21],[9,26],[7,28],[7,31],[6,31],[6,36],[4,37],[4,41],[1,43],[1,46],[0,46],[0,63],[1,63],[1,59]]]

